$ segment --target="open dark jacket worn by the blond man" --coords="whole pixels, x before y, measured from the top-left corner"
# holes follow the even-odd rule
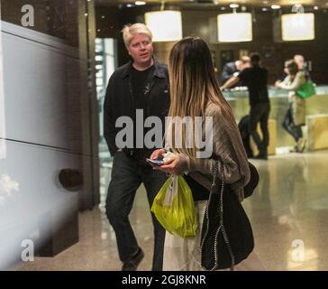
[[[114,71],[109,79],[104,103],[104,135],[112,155],[118,150],[115,145],[115,136],[122,127],[115,127],[118,117],[131,117],[135,115],[134,100],[132,94],[131,74],[132,61]],[[150,79],[150,89],[147,96],[147,117],[160,117],[162,132],[165,128],[165,117],[169,113],[169,72],[165,64],[154,59],[154,70]],[[146,129],[144,128],[146,131]],[[136,134],[133,131],[134,135]],[[134,144],[135,145],[135,144]],[[123,148],[126,154],[133,155],[133,149]],[[150,151],[145,155],[150,155]]]

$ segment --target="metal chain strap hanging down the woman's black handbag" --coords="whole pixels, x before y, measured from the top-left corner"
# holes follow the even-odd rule
[[[232,252],[232,247],[230,245],[229,242],[229,238],[226,234],[225,228],[224,228],[224,224],[223,224],[223,191],[224,191],[224,172],[223,172],[223,162],[221,161],[221,159],[219,159],[218,161],[215,161],[214,163],[214,176],[213,176],[213,182],[212,182],[212,186],[211,186],[211,191],[210,191],[210,196],[209,199],[207,201],[206,204],[206,209],[205,209],[205,217],[206,217],[206,231],[205,231],[205,236],[203,238],[203,241],[200,245],[200,250],[199,250],[199,256],[200,256],[200,266],[202,267],[202,269],[207,270],[204,266],[202,266],[202,250],[204,247],[204,242],[205,242],[205,238],[208,234],[208,230],[209,230],[209,216],[208,216],[208,210],[209,210],[209,203],[211,201],[211,199],[213,198],[213,195],[216,194],[214,192],[214,188],[216,186],[216,182],[217,180],[220,181],[220,179],[218,178],[218,174],[219,174],[219,163],[220,163],[220,169],[221,169],[221,185],[220,185],[220,191],[219,191],[219,198],[220,198],[220,203],[219,203],[219,208],[218,208],[218,213],[220,215],[220,225],[219,228],[217,228],[216,232],[215,232],[215,238],[214,238],[214,266],[209,270],[209,271],[214,271],[216,270],[219,265],[218,265],[218,254],[217,254],[217,243],[218,243],[218,238],[219,238],[219,234],[220,231],[223,234],[223,239],[224,239],[224,243],[226,244],[228,250],[229,250],[229,254],[231,256],[232,259],[232,267],[231,270],[233,270],[234,264],[235,264],[235,257],[233,255]]]

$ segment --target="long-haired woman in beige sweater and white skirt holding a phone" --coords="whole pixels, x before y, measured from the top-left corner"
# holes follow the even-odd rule
[[[223,235],[224,242],[228,241],[229,244],[223,245],[222,250],[229,251],[227,254],[232,259],[231,265],[226,267],[242,269],[243,266],[247,269],[262,269],[259,259],[253,253],[251,224],[240,204],[244,198],[243,188],[250,181],[249,163],[232,108],[223,98],[215,77],[211,53],[203,40],[197,37],[187,37],[174,45],[169,55],[169,78],[171,96],[169,117],[189,117],[192,126],[189,126],[189,130],[187,126],[181,130],[172,125],[169,120],[166,131],[166,149],[155,151],[150,158],[158,159],[168,151],[174,153],[169,161],[154,169],[176,174],[186,173],[186,180],[195,201],[199,229],[195,238],[179,238],[167,232],[163,269],[200,270],[204,269],[207,261],[204,256],[211,258],[207,255],[209,252],[206,251],[206,247],[210,249],[214,244],[209,243],[203,246],[205,236],[202,231],[205,225],[203,219],[208,218],[208,222],[211,223],[217,217],[216,209],[218,208],[214,208],[210,202],[211,191],[214,189],[215,169],[215,174],[224,182],[223,223],[226,229],[223,233],[227,234]],[[201,117],[203,126],[196,126],[196,117]],[[209,138],[211,141],[207,142],[211,145],[212,154],[208,157],[201,157],[199,146],[197,146],[200,140],[196,135],[206,136],[206,117],[210,117],[213,122]],[[191,131],[190,127],[192,127]],[[176,136],[181,134],[181,131],[182,142],[179,144],[182,145],[177,145]],[[190,134],[195,135],[191,143],[193,145],[187,145],[187,143],[190,144]],[[217,165],[218,160],[221,165]],[[215,198],[214,195],[212,200],[215,201],[217,199]],[[227,207],[230,201],[233,202],[233,210]],[[232,232],[234,228],[238,228],[238,232]],[[217,234],[220,234],[220,229],[218,228]],[[243,235],[238,235],[240,232]],[[235,233],[238,238],[234,238]],[[216,248],[214,251],[216,252]],[[255,263],[246,262],[250,260]],[[214,266],[215,268],[220,268],[220,266]],[[205,269],[209,268],[205,267]]]

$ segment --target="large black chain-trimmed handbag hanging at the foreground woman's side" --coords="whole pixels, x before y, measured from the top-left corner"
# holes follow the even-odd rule
[[[218,178],[221,165],[222,175]],[[259,173],[250,164],[253,180],[246,189],[250,196],[259,182]],[[246,259],[254,248],[251,223],[237,195],[224,185],[223,162],[217,160],[214,179],[201,232],[200,260],[205,270],[232,268]]]

